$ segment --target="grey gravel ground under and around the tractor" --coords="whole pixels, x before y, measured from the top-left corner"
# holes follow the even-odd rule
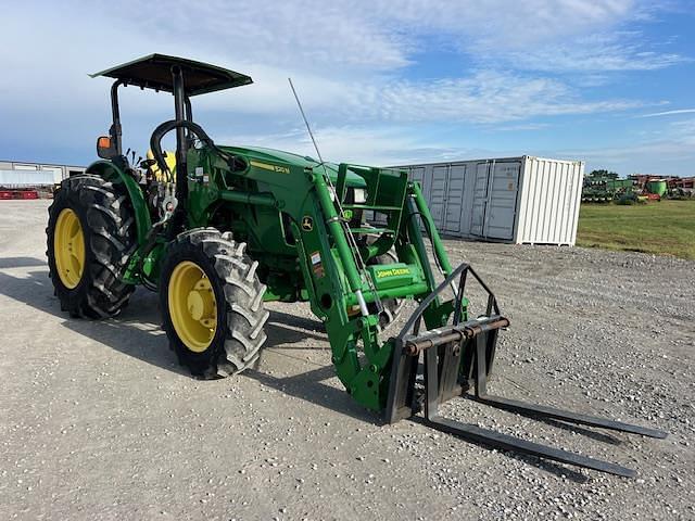
[[[332,376],[304,304],[271,305],[261,367],[197,381],[138,290],[70,319],[48,202],[0,203],[0,519],[695,519],[695,263],[447,241],[497,293],[491,391],[660,428],[665,441],[456,401],[447,415],[634,468],[636,479],[381,425]]]

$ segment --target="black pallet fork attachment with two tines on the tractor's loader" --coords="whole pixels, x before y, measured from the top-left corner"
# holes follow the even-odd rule
[[[462,322],[460,303],[464,298],[468,274],[486,292],[488,306],[484,317]],[[425,310],[434,298],[452,287],[456,279],[458,279],[458,290],[455,296],[453,325],[420,332]],[[440,405],[455,396],[466,396],[530,418],[554,419],[657,439],[667,436],[666,432],[656,429],[488,394],[488,376],[494,360],[497,333],[500,329],[507,326],[509,320],[500,314],[494,294],[468,264],[463,264],[452,271],[434,292],[422,300],[395,339],[386,421],[393,423],[401,419],[416,417],[422,411],[424,423],[427,427],[473,443],[610,474],[634,476],[634,470],[617,463],[548,447],[440,416]],[[420,354],[425,359],[424,390],[417,383]],[[471,387],[472,395],[469,393]]]

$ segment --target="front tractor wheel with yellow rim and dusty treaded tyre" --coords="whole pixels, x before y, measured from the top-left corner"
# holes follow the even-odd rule
[[[230,233],[199,228],[179,234],[162,265],[164,330],[195,377],[225,378],[254,366],[266,341],[266,287],[244,250]]]

